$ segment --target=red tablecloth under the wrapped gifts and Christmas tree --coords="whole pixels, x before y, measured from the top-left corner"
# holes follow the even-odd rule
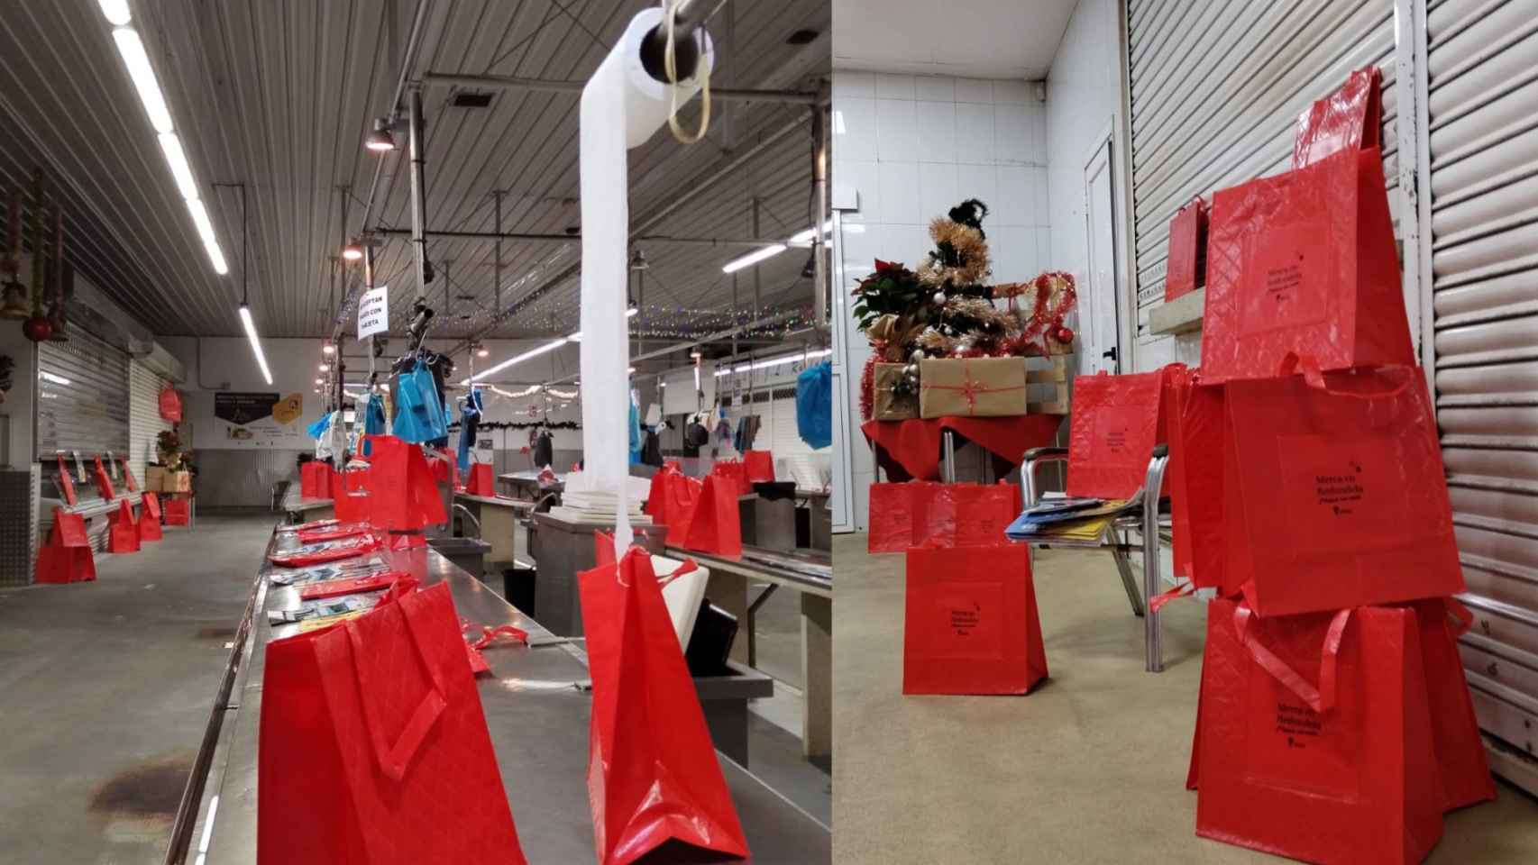
[[[940,441],[944,430],[1018,466],[1027,449],[1046,447],[1057,438],[1063,415],[1020,415],[1015,418],[910,418],[906,421],[866,421],[860,426],[866,441],[880,447],[918,481],[940,479]]]

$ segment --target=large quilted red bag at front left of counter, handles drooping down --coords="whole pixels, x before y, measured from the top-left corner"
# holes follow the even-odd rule
[[[448,584],[272,641],[261,694],[258,863],[524,863]]]

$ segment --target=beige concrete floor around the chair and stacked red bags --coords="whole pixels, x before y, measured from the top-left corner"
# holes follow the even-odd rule
[[[1143,624],[1110,558],[1043,552],[1035,585],[1052,678],[1024,698],[904,698],[903,556],[834,539],[834,859],[1280,862],[1198,839],[1186,767],[1204,607],[1164,607],[1166,671],[1143,671]],[[1538,862],[1538,802],[1449,814],[1429,862]]]

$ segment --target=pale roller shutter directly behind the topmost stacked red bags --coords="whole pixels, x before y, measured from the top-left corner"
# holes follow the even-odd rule
[[[1398,191],[1392,0],[1129,0],[1134,270],[1138,290],[1135,367],[1198,363],[1195,338],[1147,330],[1164,300],[1169,220],[1193,195],[1286,171],[1293,128],[1313,100],[1352,69],[1383,69],[1384,174]],[[1418,321],[1418,292],[1407,295]],[[1412,327],[1412,330],[1416,330]],[[1180,350],[1177,350],[1180,349]]]

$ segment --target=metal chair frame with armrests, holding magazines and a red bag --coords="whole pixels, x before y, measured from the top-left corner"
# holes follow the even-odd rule
[[[1050,462],[1066,462],[1066,447],[1032,447],[1026,452],[1020,464],[1020,498],[1029,509],[1037,504],[1037,469]],[[1143,487],[1127,499],[1126,509],[1112,519],[1106,532],[1095,541],[1063,541],[1041,539],[1029,541],[1032,547],[1070,547],[1089,550],[1109,550],[1121,575],[1121,585],[1127,590],[1127,601],[1132,604],[1132,615],[1143,618],[1143,648],[1147,658],[1149,673],[1164,671],[1164,647],[1160,639],[1158,611],[1154,610],[1154,598],[1160,595],[1161,584],[1158,575],[1160,539],[1169,536],[1170,519],[1161,516],[1158,510],[1158,489],[1164,486],[1164,467],[1169,464],[1169,446],[1160,444],[1149,456],[1149,469],[1143,479]],[[1147,490],[1155,490],[1149,507]],[[1132,575],[1132,559],[1129,553],[1134,544],[1129,541],[1130,532],[1143,533],[1143,587],[1138,588]]]

